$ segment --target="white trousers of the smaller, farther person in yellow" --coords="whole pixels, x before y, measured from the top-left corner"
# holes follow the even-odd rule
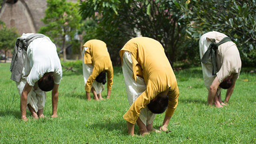
[[[86,85],[86,82],[89,78],[89,76],[92,74],[93,65],[92,64],[84,64],[84,52],[88,49],[88,47],[84,47],[82,51],[82,66],[83,66],[83,74],[84,74],[84,86]],[[97,94],[100,94],[104,90],[104,85],[100,82],[97,82],[94,80],[92,83],[92,87],[96,91]],[[92,89],[90,91],[92,93]]]

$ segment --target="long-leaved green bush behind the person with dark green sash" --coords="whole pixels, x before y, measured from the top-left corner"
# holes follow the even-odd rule
[[[194,17],[188,34],[192,38],[198,40],[212,30],[222,32],[236,43],[243,64],[256,66],[254,60],[249,60],[256,57],[252,56],[256,49],[255,0],[192,0],[191,13]]]

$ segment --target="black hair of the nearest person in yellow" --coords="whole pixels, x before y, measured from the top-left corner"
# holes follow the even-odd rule
[[[168,96],[157,96],[156,100],[150,100],[150,103],[147,105],[148,109],[154,114],[162,114],[168,106],[168,98]]]

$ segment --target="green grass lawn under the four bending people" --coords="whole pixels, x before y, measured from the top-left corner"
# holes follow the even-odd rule
[[[0,144],[256,143],[256,74],[249,73],[250,68],[242,68],[229,104],[224,108],[206,106],[208,91],[200,67],[175,72],[180,97],[168,125],[170,132],[132,137],[127,134],[126,121],[122,118],[129,108],[122,69],[114,67],[110,100],[89,102],[80,64],[74,64],[78,72],[63,72],[58,118],[50,118],[52,102],[48,92],[44,108],[48,119],[33,120],[27,111],[30,121],[23,122],[20,120],[20,96],[15,82],[10,80],[10,63],[0,63]],[[225,94],[226,90],[222,90],[222,100]],[[102,96],[106,99],[106,85]],[[158,114],[153,127],[158,128],[163,119],[164,114]],[[135,134],[138,134],[138,126],[135,126]]]

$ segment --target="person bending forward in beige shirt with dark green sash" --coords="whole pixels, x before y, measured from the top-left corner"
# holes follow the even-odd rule
[[[214,102],[216,107],[222,107],[228,103],[240,74],[242,62],[239,51],[228,36],[216,31],[201,36],[199,49],[204,84],[208,90],[207,103],[211,106]],[[224,103],[221,88],[228,89]]]

